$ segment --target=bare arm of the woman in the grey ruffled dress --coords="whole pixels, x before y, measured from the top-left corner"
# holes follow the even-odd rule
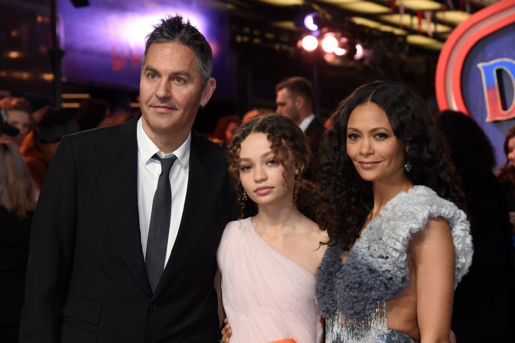
[[[448,343],[454,297],[454,244],[448,222],[430,219],[411,239],[408,251],[417,277],[421,343]]]

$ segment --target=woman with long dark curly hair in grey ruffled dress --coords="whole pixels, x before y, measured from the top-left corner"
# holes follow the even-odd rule
[[[320,155],[326,342],[450,341],[472,242],[449,150],[424,100],[399,83],[359,87],[333,114]]]

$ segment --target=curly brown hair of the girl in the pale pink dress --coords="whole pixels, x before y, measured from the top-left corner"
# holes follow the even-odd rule
[[[290,118],[276,114],[263,115],[244,123],[234,132],[229,144],[229,176],[234,180],[241,216],[254,214],[256,207],[252,200],[244,201],[242,197],[243,187],[239,182],[239,151],[247,136],[258,132],[266,134],[270,142],[270,149],[276,153],[276,158],[285,170],[290,167],[299,169],[300,173],[296,174],[294,184],[294,199],[297,209],[306,217],[317,222],[320,192],[315,184],[300,176],[310,161],[310,148],[306,135]],[[295,161],[294,166],[286,163],[290,153]]]

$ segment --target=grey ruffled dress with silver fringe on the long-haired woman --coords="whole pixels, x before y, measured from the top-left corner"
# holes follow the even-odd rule
[[[467,216],[431,188],[414,186],[393,197],[349,251],[329,247],[317,271],[316,291],[325,319],[327,343],[414,343],[408,335],[388,330],[386,304],[409,282],[408,244],[431,218],[449,222],[455,247],[455,287],[472,262]]]

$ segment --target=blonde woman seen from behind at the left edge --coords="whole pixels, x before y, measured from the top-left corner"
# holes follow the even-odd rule
[[[27,166],[13,144],[0,143],[0,337],[18,342],[29,233],[36,201]]]

